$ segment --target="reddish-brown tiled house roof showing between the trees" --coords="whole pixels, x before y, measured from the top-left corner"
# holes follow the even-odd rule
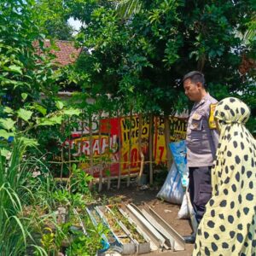
[[[38,43],[36,43],[37,45]],[[55,40],[55,48],[50,50],[50,53],[55,55],[55,63],[60,66],[72,64],[79,57],[81,48],[74,47],[73,42],[64,40]],[[49,40],[44,40],[44,47],[51,47]],[[40,50],[39,50],[40,54]]]

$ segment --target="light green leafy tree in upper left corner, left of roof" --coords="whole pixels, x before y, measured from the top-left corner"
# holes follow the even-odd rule
[[[32,0],[0,3],[0,94],[3,103],[14,109],[37,101],[42,92],[53,95],[57,87],[53,56],[44,49],[33,4]]]

